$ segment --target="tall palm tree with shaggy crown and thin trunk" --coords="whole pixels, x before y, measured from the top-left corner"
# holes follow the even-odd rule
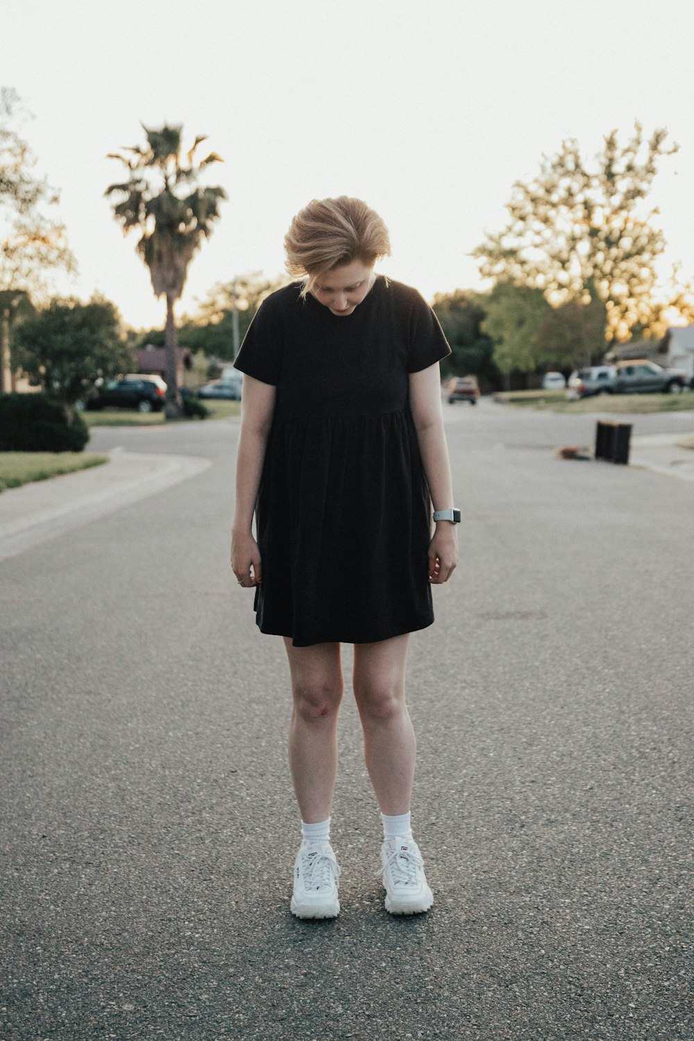
[[[164,124],[159,130],[148,130],[145,147],[124,148],[110,153],[109,159],[120,159],[130,173],[122,184],[110,184],[106,196],[114,199],[113,215],[127,234],[132,228],[139,232],[137,252],[150,270],[156,297],[166,298],[166,417],[181,415],[181,397],[176,374],[176,323],[174,305],[185,285],[188,264],[200,249],[203,238],[212,233],[212,224],[220,218],[220,203],[227,198],[222,187],[200,187],[201,173],[212,162],[221,162],[216,152],[210,152],[194,166],[196,149],[205,136],[198,136],[181,161],[181,126]]]

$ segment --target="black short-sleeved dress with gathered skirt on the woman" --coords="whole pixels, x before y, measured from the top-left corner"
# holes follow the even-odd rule
[[[409,286],[378,277],[342,316],[301,288],[263,301],[235,362],[277,387],[256,503],[256,620],[294,646],[423,629],[431,501],[408,374],[451,349]]]

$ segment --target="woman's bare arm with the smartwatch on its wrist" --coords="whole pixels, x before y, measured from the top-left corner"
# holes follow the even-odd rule
[[[410,409],[419,453],[435,510],[454,505],[448,447],[443,432],[441,378],[438,362],[410,374]],[[429,547],[430,581],[447,582],[458,563],[458,533],[449,520],[439,520]]]

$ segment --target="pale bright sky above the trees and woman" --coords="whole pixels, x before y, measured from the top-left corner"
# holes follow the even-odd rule
[[[3,0],[0,85],[60,192],[78,275],[56,291],[99,291],[145,328],[164,304],[104,198],[122,170],[107,153],[142,124],[208,134],[225,160],[205,183],[229,199],[179,313],[217,282],[281,274],[293,214],[337,195],[384,218],[380,271],[430,299],[481,288],[470,254],[513,182],[563,139],[590,157],[636,120],[679,145],[651,199],[667,265],[694,275],[692,39],[691,0]]]

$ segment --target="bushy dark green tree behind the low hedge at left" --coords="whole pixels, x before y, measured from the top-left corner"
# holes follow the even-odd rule
[[[18,360],[29,379],[59,401],[72,418],[99,377],[132,367],[119,313],[108,300],[52,300],[15,331]]]

